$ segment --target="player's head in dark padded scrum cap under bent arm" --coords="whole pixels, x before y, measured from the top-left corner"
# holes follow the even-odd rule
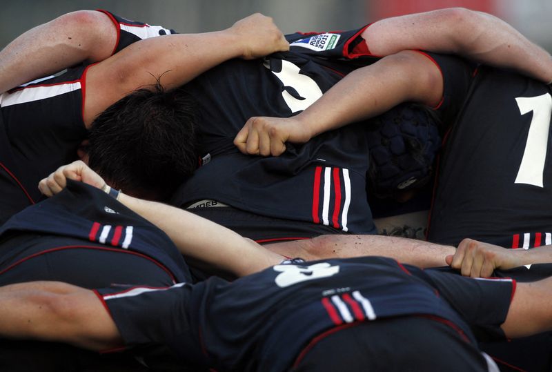
[[[439,121],[425,106],[400,104],[375,117],[368,132],[368,193],[398,197],[431,179]]]

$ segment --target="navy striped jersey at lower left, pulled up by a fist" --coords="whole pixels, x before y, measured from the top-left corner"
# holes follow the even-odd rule
[[[3,224],[0,246],[0,276],[41,255],[90,249],[143,257],[161,268],[172,282],[190,280],[188,266],[163,231],[103,191],[70,180],[63,192]],[[75,273],[79,275],[94,273]],[[64,280],[72,282],[71,278]],[[135,273],[123,284],[140,281],[140,273]]]

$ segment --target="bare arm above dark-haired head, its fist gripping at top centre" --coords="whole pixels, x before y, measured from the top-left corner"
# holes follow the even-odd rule
[[[129,92],[154,86],[159,77],[165,88],[175,88],[228,59],[253,59],[288,48],[282,32],[262,14],[223,31],[137,41],[88,70],[85,124]]]

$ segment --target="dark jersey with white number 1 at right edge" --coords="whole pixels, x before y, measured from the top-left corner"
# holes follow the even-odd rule
[[[477,73],[446,143],[428,238],[506,248],[552,244],[550,86],[493,68]]]

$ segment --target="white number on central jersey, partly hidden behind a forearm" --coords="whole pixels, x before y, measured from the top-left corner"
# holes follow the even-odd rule
[[[266,68],[268,66],[264,65]],[[303,99],[297,99],[290,95],[286,90],[282,92],[284,101],[290,108],[291,112],[305,110],[308,106],[314,103],[317,99],[322,97],[322,90],[320,90],[316,81],[306,75],[299,74],[299,67],[290,61],[282,60],[282,71],[274,72],[270,71],[276,77],[282,81],[284,86],[289,86],[297,91]]]

